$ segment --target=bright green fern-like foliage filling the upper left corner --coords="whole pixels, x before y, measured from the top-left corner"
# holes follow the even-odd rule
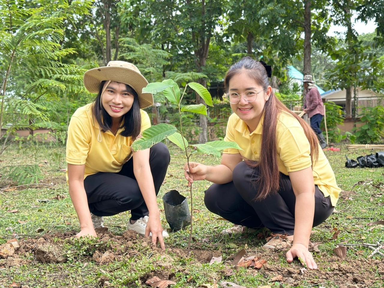
[[[62,63],[76,51],[61,43],[66,21],[89,13],[91,5],[91,0],[0,0],[0,129],[5,123],[31,127],[46,122],[47,109],[39,101],[84,92],[85,70]]]

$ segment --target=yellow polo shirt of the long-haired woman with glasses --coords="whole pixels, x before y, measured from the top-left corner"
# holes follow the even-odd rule
[[[260,159],[260,145],[263,132],[264,115],[257,128],[249,132],[247,124],[233,113],[227,124],[225,141],[236,142],[243,151],[226,149],[226,154],[240,153],[242,157],[252,161]],[[310,143],[305,136],[300,122],[293,116],[280,112],[276,125],[277,154],[279,171],[285,175],[311,167]],[[319,145],[319,158],[312,167],[314,184],[318,185],[324,196],[330,195],[331,203],[336,205],[341,189],[336,184],[335,175]]]

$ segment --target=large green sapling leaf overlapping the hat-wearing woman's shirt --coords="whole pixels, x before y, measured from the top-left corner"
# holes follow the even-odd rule
[[[166,139],[176,132],[176,127],[169,124],[158,124],[149,127],[142,132],[142,137],[133,142],[131,149],[133,152],[151,148],[156,143]]]

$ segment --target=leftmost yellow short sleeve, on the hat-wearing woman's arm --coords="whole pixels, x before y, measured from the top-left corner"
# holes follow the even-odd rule
[[[66,161],[69,164],[83,165],[88,157],[90,131],[84,123],[72,116],[68,126],[68,139],[66,147]]]

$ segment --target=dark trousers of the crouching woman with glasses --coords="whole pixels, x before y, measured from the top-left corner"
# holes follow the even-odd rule
[[[280,173],[280,190],[266,199],[255,201],[258,187],[255,187],[253,180],[258,173],[258,169],[240,162],[233,170],[232,182],[213,184],[205,191],[205,206],[212,213],[237,225],[267,227],[273,233],[293,235],[296,197],[289,176]],[[334,209],[330,197],[324,197],[317,185],[315,191],[313,227],[323,223]]]

